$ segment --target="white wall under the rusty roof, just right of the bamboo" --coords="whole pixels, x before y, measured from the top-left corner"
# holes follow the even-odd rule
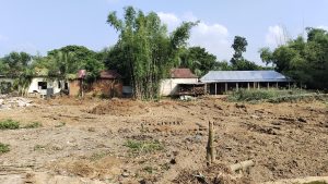
[[[161,82],[161,96],[175,95],[178,91],[178,84],[197,83],[198,78],[166,78]]]

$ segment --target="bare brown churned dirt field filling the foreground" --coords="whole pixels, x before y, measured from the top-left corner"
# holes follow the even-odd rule
[[[42,127],[0,131],[0,183],[265,183],[328,176],[328,105],[196,101],[34,100],[0,121]],[[208,122],[218,163],[206,165]],[[143,143],[133,148],[130,143]],[[241,174],[229,165],[253,160]],[[224,182],[223,182],[224,181]]]

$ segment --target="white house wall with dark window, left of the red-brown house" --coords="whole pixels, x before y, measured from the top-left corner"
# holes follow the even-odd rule
[[[54,94],[60,93],[60,90],[63,88],[63,82],[58,81],[58,79],[52,79],[52,78],[46,78],[46,77],[34,77],[32,79],[32,83],[30,84],[28,94],[32,93],[39,93],[40,95],[46,95],[47,89],[40,89],[38,87],[39,82],[46,82],[47,83],[47,88],[54,88]],[[61,83],[61,87],[59,88],[59,83]]]

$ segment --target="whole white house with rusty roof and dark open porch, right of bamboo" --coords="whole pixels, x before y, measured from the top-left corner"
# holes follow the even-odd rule
[[[190,69],[173,69],[169,76],[161,82],[161,96],[203,95],[203,84]]]

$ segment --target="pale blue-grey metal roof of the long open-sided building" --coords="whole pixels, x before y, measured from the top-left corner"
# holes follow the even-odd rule
[[[201,82],[289,82],[290,79],[276,71],[210,71]]]

